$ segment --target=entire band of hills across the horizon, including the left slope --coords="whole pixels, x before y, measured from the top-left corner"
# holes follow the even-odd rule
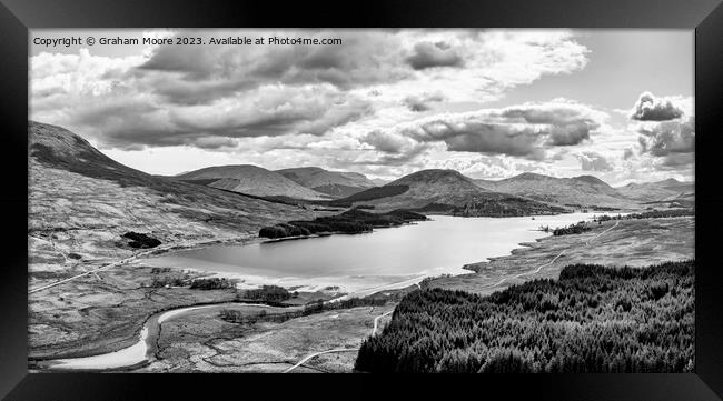
[[[310,218],[309,204],[526,215],[587,208],[693,207],[695,197],[692,182],[673,179],[613,188],[592,176],[523,173],[479,180],[454,170],[422,170],[380,186],[356,172],[318,167],[271,171],[221,166],[169,178],[118,163],[60,127],[29,122],[28,136],[30,230],[66,232],[69,240],[85,235],[102,242],[108,232],[132,229],[172,238],[237,235]]]

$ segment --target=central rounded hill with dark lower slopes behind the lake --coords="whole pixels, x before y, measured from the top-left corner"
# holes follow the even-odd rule
[[[340,199],[377,210],[410,209],[455,215],[529,215],[564,212],[564,209],[476,186],[455,170],[422,170]]]

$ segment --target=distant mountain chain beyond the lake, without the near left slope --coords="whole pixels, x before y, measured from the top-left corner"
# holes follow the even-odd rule
[[[318,167],[270,171],[256,166],[222,166],[187,172],[176,178],[235,192],[383,209],[418,209],[429,203],[456,207],[482,200],[519,197],[566,209],[640,209],[692,207],[692,182],[667,179],[611,187],[594,176],[556,178],[525,172],[502,180],[472,179],[455,170],[430,169],[392,182],[375,182],[364,174]],[[403,189],[403,187],[409,187]],[[532,204],[532,203],[531,203]]]

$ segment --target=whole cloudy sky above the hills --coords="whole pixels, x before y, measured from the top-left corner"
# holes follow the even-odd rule
[[[69,37],[81,43],[42,44]],[[229,37],[265,43],[210,44]],[[693,40],[692,30],[32,30],[29,116],[155,174],[256,164],[690,181]]]

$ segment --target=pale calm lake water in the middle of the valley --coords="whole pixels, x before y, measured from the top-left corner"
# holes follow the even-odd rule
[[[549,235],[538,231],[591,220],[595,213],[524,218],[430,215],[372,233],[212,245],[145,260],[157,267],[194,268],[236,277],[246,284],[276,283],[305,289],[337,285],[346,291],[409,285],[426,275],[460,274],[464,264],[509,254],[521,242]],[[405,287],[406,287],[405,285]]]

